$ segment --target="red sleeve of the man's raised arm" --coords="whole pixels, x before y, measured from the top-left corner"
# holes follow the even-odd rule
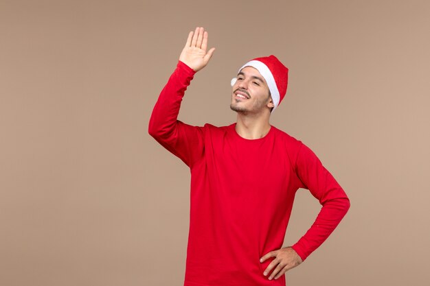
[[[203,128],[179,120],[183,95],[196,72],[179,61],[152,110],[148,132],[189,167],[203,156]]]

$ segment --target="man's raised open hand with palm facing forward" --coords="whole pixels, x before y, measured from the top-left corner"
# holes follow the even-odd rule
[[[179,60],[194,71],[203,69],[214,54],[215,48],[207,49],[207,32],[203,27],[196,27],[196,31],[188,34],[187,43],[179,56]]]

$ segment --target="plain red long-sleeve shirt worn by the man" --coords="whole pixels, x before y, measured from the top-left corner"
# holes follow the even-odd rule
[[[260,258],[282,248],[297,189],[308,189],[322,205],[292,246],[302,260],[332,233],[350,201],[312,150],[274,126],[249,140],[237,134],[236,123],[190,126],[177,120],[194,73],[178,62],[149,122],[151,136],[191,171],[184,286],[285,285],[284,275],[263,275],[273,258]]]

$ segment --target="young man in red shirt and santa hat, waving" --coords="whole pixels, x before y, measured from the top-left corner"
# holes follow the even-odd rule
[[[285,285],[284,273],[327,239],[350,201],[302,141],[269,123],[288,83],[288,69],[275,56],[247,62],[231,81],[236,123],[177,120],[187,86],[213,53],[203,27],[190,32],[149,122],[150,135],[191,170],[184,285]],[[319,200],[321,211],[297,243],[282,248],[299,188]]]

